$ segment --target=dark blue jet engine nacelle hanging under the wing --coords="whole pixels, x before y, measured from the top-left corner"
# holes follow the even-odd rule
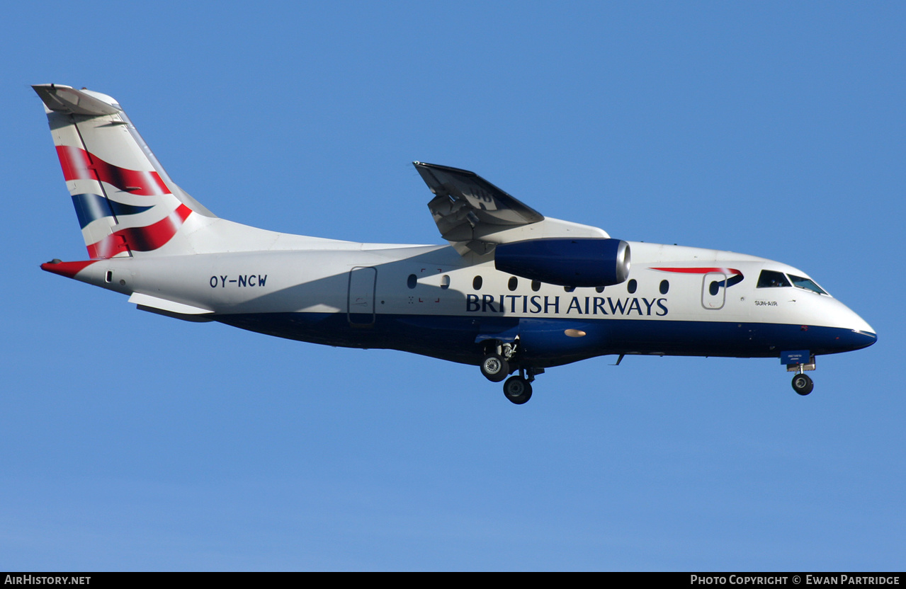
[[[497,270],[562,286],[620,284],[629,277],[629,243],[618,239],[560,238],[501,243]]]

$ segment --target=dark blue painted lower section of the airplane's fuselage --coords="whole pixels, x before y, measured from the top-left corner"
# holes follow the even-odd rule
[[[494,318],[483,322],[480,317],[376,315],[370,325],[351,325],[345,313],[262,313],[217,316],[217,320],[315,344],[398,349],[473,365],[484,355],[477,340],[498,333],[518,335],[519,362],[536,367],[612,354],[778,357],[787,350],[835,354],[875,341],[873,335],[844,328],[662,319]],[[567,329],[573,336],[584,335],[570,337]]]

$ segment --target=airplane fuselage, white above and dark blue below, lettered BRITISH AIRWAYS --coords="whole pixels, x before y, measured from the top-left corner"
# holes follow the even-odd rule
[[[629,280],[603,289],[533,285],[496,271],[493,255],[463,256],[449,246],[354,242],[113,258],[92,263],[78,280],[178,317],[467,363],[480,359],[476,342],[492,337],[520,339],[526,361],[537,366],[602,354],[826,354],[873,343],[871,326],[830,295],[757,288],[763,270],[805,277],[786,264],[643,242],[631,242],[631,252]],[[739,281],[728,280],[737,271]]]

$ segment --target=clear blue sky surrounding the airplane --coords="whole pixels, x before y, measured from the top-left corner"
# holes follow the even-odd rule
[[[899,3],[5,8],[0,569],[902,570]],[[474,366],[142,313],[30,84],[111,94],[216,214],[441,242],[410,162],[614,237],[803,269],[874,347]]]

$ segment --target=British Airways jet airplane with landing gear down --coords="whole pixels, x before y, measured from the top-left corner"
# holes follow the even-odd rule
[[[613,239],[473,172],[413,162],[446,245],[346,242],[217,217],[176,185],[119,102],[41,84],[88,259],[44,271],[138,309],[335,347],[479,366],[524,404],[545,369],[595,356],[780,358],[805,395],[815,356],[875,330],[784,263]]]

